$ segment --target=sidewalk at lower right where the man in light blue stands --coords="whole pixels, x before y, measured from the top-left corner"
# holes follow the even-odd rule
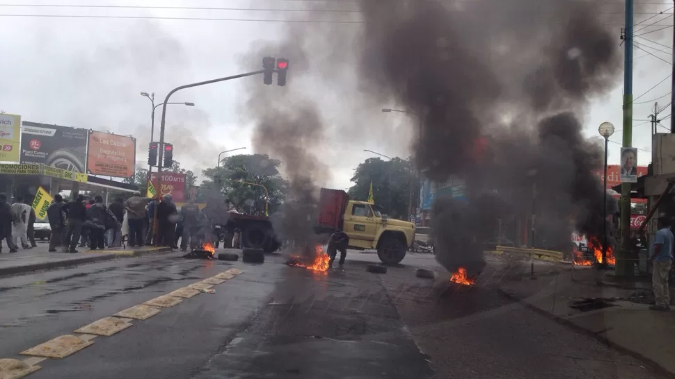
[[[536,312],[675,375],[675,310],[649,310],[649,289],[611,285],[606,273],[591,267],[572,270],[561,265],[559,271],[496,287]]]

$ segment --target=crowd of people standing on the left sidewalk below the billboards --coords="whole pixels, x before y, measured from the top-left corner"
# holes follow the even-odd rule
[[[155,208],[157,235],[154,234]],[[228,200],[225,208],[236,212]],[[219,222],[216,214],[220,210],[220,207],[200,210],[195,201],[190,200],[179,211],[170,195],[154,199],[143,197],[140,192],[134,192],[126,201],[118,197],[109,205],[104,204],[102,196],[87,200],[80,194],[74,201],[67,201],[56,194],[47,208],[51,227],[49,251],[57,252],[61,248],[64,253],[78,253],[77,247],[117,248],[125,240],[130,247],[154,245],[173,249],[179,249],[180,241],[181,251],[196,249],[207,242],[214,242],[217,247],[222,233],[215,230],[214,224]],[[22,197],[10,204],[7,196],[0,194],[0,253],[2,239],[6,240],[10,253],[18,251],[19,241],[23,249],[37,246],[34,223],[35,211]],[[241,247],[240,230],[227,238],[232,239],[232,246]]]

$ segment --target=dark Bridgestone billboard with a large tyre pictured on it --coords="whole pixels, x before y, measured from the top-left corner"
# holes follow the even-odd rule
[[[21,162],[84,173],[87,130],[24,121]]]

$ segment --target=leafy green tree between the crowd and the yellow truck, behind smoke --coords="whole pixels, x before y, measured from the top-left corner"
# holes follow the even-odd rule
[[[223,159],[220,167],[202,170],[202,175],[208,178],[202,187],[213,188],[228,196],[241,209],[248,210],[253,206],[255,210],[263,211],[265,190],[258,186],[262,185],[269,194],[269,212],[272,213],[283,203],[288,187],[287,180],[279,173],[280,165],[279,160],[271,159],[267,154],[232,155]]]

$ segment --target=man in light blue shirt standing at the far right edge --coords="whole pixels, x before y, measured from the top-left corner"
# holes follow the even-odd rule
[[[670,294],[668,289],[668,275],[673,266],[673,233],[670,231],[671,221],[668,217],[659,217],[658,231],[654,236],[652,253],[649,261],[653,263],[651,284],[654,287],[656,304],[649,307],[651,310],[669,310]]]

